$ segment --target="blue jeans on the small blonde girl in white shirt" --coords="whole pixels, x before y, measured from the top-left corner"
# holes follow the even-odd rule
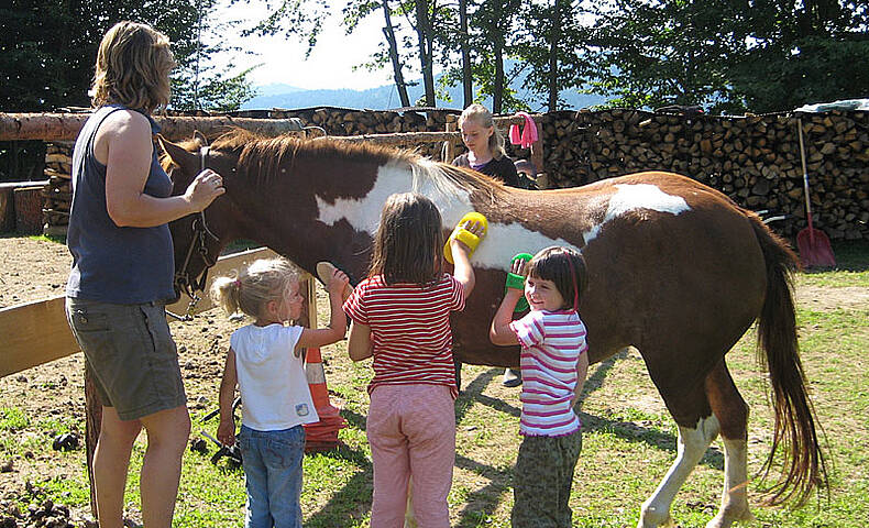
[[[241,426],[238,441],[248,487],[244,527],[301,528],[305,428],[257,431]]]

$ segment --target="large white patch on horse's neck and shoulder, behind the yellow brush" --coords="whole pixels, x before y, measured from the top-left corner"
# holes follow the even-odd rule
[[[448,230],[452,230],[465,213],[474,210],[470,191],[439,178],[436,164],[422,162],[414,168],[416,170],[396,165],[380,167],[374,187],[362,198],[339,198],[334,204],[329,204],[315,196],[319,208],[318,220],[334,226],[341,219],[346,219],[353,229],[366,232],[373,238],[377,231],[381,209],[389,195],[410,190],[428,197],[438,206],[443,228]],[[471,261],[477,267],[507,271],[510,258],[517,253],[535,254],[550,245],[563,245],[579,251],[579,248],[565,240],[546,237],[519,223],[490,222],[486,238]]]

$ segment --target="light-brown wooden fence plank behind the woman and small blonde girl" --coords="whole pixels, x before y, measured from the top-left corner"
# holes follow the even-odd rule
[[[216,277],[256,258],[270,258],[275,255],[275,252],[265,248],[226,255],[218,260],[209,272],[209,276]],[[302,278],[309,278],[309,276],[306,274]],[[309,292],[311,292],[309,295],[314,299],[308,302],[310,307],[316,305],[316,298],[312,297],[312,288]],[[182,296],[182,298],[184,300],[166,308],[176,314],[186,312],[189,299],[186,296]],[[64,304],[65,297],[57,296],[0,309],[0,336],[3,337],[3,345],[0,348],[0,377],[79,351],[78,343],[66,322]],[[212,307],[211,299],[206,296],[197,302],[193,314],[199,314]],[[316,307],[312,309],[312,314],[316,314]],[[174,318],[169,318],[170,322],[174,320]]]

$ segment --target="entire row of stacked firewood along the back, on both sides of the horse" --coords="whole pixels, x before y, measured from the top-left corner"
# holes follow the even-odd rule
[[[235,112],[237,118],[299,118],[328,135],[443,132],[458,110],[402,111],[311,108]],[[869,112],[681,116],[641,110],[560,111],[536,117],[543,141],[549,187],[574,187],[642,170],[669,170],[710,185],[751,210],[787,218],[771,227],[793,237],[806,226],[798,119],[805,132],[815,227],[832,239],[869,240]],[[440,158],[441,143],[395,143]],[[458,146],[458,145],[457,145]],[[70,146],[56,144],[46,157],[50,184],[45,221],[62,230],[68,216]],[[459,155],[463,148],[458,148]],[[508,145],[513,157],[528,150]]]

